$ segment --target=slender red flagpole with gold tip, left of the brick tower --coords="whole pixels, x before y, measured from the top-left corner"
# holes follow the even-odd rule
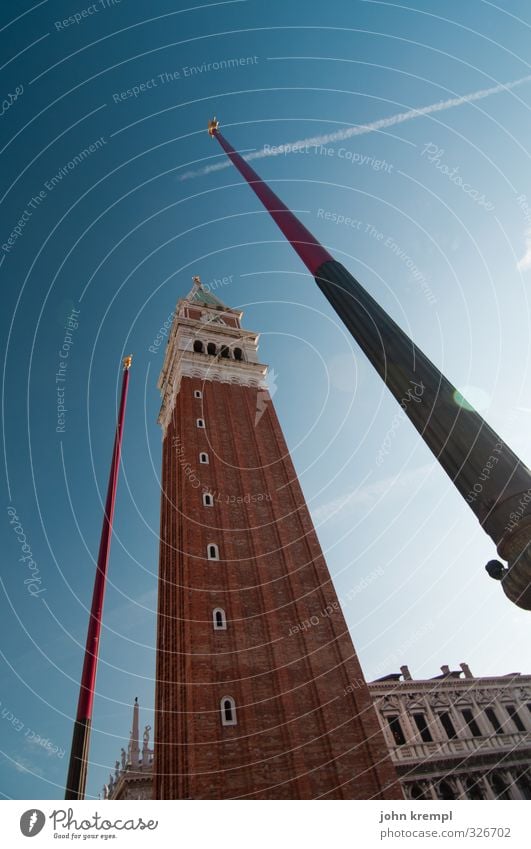
[[[92,607],[90,611],[87,642],[85,646],[85,660],[83,662],[76,721],[74,723],[74,733],[72,735],[72,748],[70,751],[70,763],[68,765],[65,799],[85,798],[90,729],[92,725],[92,707],[94,703],[94,688],[96,684],[96,670],[98,668],[101,619],[103,614],[103,599],[105,597],[107,566],[111,550],[112,522],[116,501],[116,487],[120,472],[120,455],[122,451],[122,435],[131,361],[131,356],[125,357],[123,360],[122,394],[114,437],[111,471],[107,487],[107,500],[105,502],[105,513],[103,516],[103,527],[101,529],[98,565],[96,568],[96,577],[94,579]]]

